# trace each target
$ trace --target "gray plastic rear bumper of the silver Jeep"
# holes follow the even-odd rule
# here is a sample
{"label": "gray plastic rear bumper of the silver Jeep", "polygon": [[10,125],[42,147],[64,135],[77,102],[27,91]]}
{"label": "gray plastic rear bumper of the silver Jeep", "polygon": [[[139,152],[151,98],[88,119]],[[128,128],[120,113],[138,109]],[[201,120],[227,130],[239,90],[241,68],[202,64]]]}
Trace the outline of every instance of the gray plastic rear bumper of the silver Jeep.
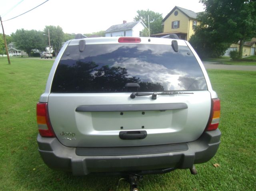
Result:
{"label": "gray plastic rear bumper of the silver Jeep", "polygon": [[204,163],[216,154],[220,135],[219,129],[204,132],[198,140],[186,143],[186,151],[122,156],[78,156],[76,148],[62,145],[57,138],[44,138],[39,134],[37,142],[40,155],[50,168],[71,171],[74,175],[87,175],[170,167],[191,168],[193,164]]}

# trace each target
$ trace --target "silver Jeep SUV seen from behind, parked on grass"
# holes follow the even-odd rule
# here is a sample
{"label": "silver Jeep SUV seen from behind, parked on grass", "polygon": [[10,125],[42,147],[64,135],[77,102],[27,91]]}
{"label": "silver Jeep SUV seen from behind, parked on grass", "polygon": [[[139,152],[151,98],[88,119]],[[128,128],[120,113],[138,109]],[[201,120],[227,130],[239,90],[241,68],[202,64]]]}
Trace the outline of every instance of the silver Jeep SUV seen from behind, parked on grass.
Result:
{"label": "silver Jeep SUV seen from behind, parked on grass", "polygon": [[52,169],[164,173],[210,160],[220,144],[220,100],[180,39],[67,41],[37,104],[37,142]]}

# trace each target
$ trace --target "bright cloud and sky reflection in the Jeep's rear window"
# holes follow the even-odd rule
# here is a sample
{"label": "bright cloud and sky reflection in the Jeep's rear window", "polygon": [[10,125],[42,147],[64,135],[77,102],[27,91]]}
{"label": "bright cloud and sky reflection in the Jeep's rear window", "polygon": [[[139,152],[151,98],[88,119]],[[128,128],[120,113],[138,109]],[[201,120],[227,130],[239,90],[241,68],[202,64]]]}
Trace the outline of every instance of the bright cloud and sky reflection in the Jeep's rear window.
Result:
{"label": "bright cloud and sky reflection in the Jeep's rear window", "polygon": [[91,72],[92,76],[104,65],[122,67],[128,77],[160,84],[165,91],[207,89],[202,70],[187,46],[179,46],[178,53],[171,45],[156,44],[86,45],[82,53],[78,46],[70,46],[61,60],[66,60],[64,64],[70,67],[75,67],[77,60],[85,64],[94,62],[98,67]]}

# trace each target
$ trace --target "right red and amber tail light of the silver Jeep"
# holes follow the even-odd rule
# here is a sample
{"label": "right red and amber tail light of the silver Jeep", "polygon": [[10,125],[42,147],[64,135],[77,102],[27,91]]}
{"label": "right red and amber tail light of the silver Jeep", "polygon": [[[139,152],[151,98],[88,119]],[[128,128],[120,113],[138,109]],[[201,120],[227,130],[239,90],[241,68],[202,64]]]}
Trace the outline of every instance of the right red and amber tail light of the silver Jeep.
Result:
{"label": "right red and amber tail light of the silver Jeep", "polygon": [[220,121],[220,99],[212,99],[212,116],[206,127],[206,131],[213,131],[218,128]]}

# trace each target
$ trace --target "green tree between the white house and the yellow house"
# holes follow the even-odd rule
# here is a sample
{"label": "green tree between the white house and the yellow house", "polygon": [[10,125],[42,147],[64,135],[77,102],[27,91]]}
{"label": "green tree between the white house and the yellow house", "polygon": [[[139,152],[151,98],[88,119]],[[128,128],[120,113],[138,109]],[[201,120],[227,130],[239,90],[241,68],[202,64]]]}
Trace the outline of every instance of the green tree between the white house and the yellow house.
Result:
{"label": "green tree between the white house and the yellow house", "polygon": [[162,33],[162,14],[156,13],[150,10],[138,10],[138,15],[134,17],[134,21],[142,21],[146,27],[148,27],[148,16],[149,16],[149,28],[150,34]]}

